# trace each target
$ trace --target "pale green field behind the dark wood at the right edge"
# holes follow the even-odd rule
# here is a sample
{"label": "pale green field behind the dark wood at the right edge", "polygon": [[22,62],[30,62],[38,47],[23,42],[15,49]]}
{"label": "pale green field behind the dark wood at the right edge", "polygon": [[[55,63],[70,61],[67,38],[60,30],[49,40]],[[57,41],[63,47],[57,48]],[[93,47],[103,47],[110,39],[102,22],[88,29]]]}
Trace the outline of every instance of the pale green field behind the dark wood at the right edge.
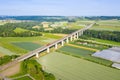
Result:
{"label": "pale green field behind the dark wood at the right edge", "polygon": [[106,20],[96,22],[98,25],[91,27],[92,30],[120,31],[119,20]]}

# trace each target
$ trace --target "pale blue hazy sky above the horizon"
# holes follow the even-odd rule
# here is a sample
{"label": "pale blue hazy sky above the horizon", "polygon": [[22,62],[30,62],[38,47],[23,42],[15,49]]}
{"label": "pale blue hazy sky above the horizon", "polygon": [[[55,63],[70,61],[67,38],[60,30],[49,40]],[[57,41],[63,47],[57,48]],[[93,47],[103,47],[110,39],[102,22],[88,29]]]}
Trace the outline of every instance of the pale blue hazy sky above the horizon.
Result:
{"label": "pale blue hazy sky above the horizon", "polygon": [[0,0],[0,15],[120,16],[120,0]]}

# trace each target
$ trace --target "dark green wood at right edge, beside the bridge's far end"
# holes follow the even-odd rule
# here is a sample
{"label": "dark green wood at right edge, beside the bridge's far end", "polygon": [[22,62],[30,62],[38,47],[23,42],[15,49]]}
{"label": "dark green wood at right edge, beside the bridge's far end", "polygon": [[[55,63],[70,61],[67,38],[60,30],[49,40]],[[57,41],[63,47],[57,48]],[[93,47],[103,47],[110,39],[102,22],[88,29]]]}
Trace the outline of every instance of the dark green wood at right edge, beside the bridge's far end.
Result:
{"label": "dark green wood at right edge, beside the bridge's far end", "polygon": [[120,32],[119,31],[86,30],[84,32],[84,36],[120,42]]}

